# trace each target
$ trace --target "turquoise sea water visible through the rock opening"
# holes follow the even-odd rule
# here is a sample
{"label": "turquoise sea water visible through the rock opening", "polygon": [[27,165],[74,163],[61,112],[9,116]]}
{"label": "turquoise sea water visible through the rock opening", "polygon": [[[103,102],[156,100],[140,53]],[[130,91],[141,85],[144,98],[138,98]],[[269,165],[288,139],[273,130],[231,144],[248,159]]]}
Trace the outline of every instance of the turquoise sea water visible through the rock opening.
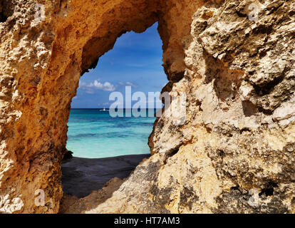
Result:
{"label": "turquoise sea water visible through the rock opening", "polygon": [[155,118],[129,118],[125,113],[130,110],[122,111],[124,117],[113,118],[108,110],[71,109],[67,149],[74,157],[87,158],[150,153],[148,137]]}

